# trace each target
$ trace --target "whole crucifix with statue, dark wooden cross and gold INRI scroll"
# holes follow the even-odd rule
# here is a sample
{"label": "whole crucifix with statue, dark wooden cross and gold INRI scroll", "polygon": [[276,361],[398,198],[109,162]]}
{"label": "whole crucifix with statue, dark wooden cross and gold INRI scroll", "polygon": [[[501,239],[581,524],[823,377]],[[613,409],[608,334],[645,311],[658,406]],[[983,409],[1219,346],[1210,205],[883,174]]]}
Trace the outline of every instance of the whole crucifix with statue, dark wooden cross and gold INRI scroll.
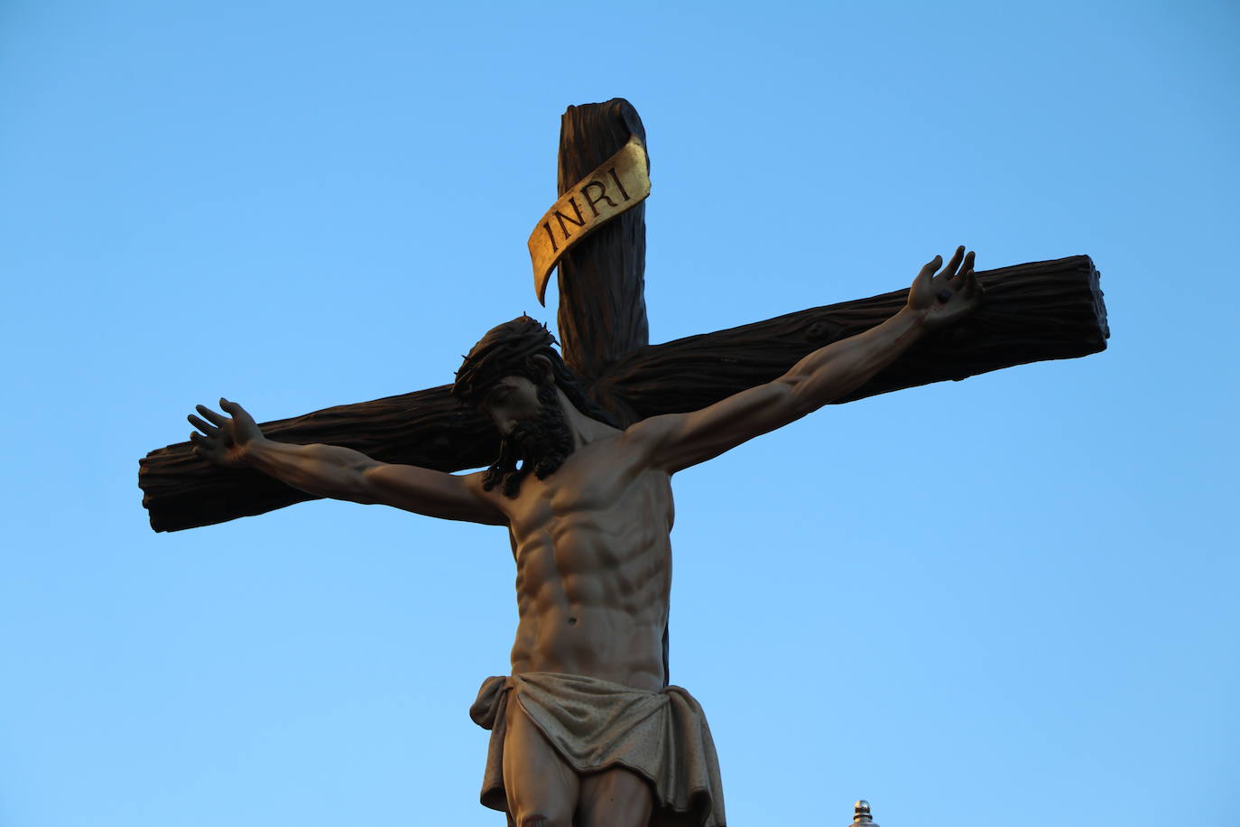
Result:
{"label": "whole crucifix with statue, dark wooden cross and gold INRI scroll", "polygon": [[139,471],[155,531],[322,496],[506,526],[512,674],[471,715],[492,730],[482,801],[520,825],[724,825],[704,715],[667,670],[672,474],[823,404],[1085,356],[1109,335],[1089,257],[975,273],[960,248],[908,290],[650,345],[649,180],[618,171],[645,159],[626,100],[563,115],[560,200],[531,236],[539,299],[559,268],[559,353],[522,316],[453,384],[262,425],[200,405],[191,441]]}

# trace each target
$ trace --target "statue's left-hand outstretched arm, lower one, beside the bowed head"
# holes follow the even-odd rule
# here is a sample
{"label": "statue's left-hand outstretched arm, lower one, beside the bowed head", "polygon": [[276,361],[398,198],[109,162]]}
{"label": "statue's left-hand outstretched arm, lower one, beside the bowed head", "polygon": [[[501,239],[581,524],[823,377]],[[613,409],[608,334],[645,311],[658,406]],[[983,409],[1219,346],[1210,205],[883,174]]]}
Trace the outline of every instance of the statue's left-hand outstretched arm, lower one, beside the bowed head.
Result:
{"label": "statue's left-hand outstretched arm, lower one, beside the bowed head", "polygon": [[267,439],[236,402],[219,400],[232,417],[197,405],[190,414],[201,433],[190,434],[193,453],[226,467],[253,467],[308,493],[334,500],[382,503],[429,517],[503,524],[480,475],[455,476],[414,465],[391,465],[336,445],[290,445]]}

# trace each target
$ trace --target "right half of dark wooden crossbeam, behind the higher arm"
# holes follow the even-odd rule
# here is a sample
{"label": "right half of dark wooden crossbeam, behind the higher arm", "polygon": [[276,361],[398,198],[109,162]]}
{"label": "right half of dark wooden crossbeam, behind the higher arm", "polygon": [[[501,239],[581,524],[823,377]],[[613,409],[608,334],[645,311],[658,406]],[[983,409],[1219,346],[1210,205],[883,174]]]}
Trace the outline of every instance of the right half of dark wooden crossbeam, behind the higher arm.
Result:
{"label": "right half of dark wooden crossbeam, behind the higher arm", "polygon": [[[1106,309],[1099,273],[1087,255],[977,275],[986,298],[975,314],[926,336],[837,402],[1106,348]],[[637,348],[600,376],[593,389],[637,419],[697,410],[770,382],[815,350],[880,324],[904,306],[908,293],[811,307]]]}

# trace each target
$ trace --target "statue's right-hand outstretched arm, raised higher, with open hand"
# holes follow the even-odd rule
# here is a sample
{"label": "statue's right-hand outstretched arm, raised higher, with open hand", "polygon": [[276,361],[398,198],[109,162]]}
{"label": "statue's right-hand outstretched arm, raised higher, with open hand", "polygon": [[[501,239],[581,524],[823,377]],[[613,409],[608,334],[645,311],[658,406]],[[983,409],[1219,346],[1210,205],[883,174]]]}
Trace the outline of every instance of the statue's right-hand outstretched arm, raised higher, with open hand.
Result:
{"label": "statue's right-hand outstretched arm, raised higher, with open hand", "polygon": [[[962,267],[963,264],[963,267]],[[973,254],[961,247],[921,268],[905,306],[863,334],[822,347],[766,384],[687,414],[651,417],[625,434],[652,467],[675,472],[775,430],[864,384],[918,341],[962,319],[981,301]]]}

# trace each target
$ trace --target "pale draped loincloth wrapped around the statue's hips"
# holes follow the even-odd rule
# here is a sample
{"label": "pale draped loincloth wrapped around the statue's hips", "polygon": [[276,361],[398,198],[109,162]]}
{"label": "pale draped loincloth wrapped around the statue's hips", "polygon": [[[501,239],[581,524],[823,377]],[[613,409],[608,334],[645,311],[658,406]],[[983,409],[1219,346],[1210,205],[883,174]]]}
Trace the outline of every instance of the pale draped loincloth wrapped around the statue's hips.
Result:
{"label": "pale draped loincloth wrapped around the statue's hips", "polygon": [[526,672],[482,682],[469,714],[491,730],[484,806],[507,812],[510,693],[579,775],[624,766],[644,777],[655,792],[651,827],[725,827],[719,760],[693,696],[675,686],[650,692],[580,674]]}

